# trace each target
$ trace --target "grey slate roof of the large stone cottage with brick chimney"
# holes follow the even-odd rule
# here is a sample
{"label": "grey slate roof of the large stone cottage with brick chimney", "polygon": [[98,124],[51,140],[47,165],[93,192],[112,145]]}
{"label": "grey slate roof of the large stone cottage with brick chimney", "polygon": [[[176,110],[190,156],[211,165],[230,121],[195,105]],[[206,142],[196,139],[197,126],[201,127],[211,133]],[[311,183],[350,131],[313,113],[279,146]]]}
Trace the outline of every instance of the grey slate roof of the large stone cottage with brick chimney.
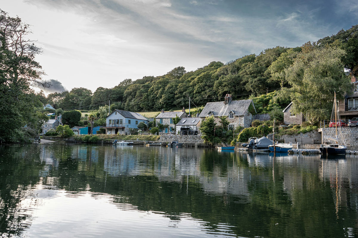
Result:
{"label": "grey slate roof of the large stone cottage with brick chimney", "polygon": [[[213,113],[214,116],[228,116],[230,111],[233,111],[236,116],[245,115],[248,107],[252,103],[253,108],[255,105],[251,99],[248,100],[235,100],[231,101],[229,104],[224,104],[224,102],[208,102],[206,103],[203,111],[200,113],[199,117],[207,117],[209,114]],[[256,109],[255,109],[256,111]]]}

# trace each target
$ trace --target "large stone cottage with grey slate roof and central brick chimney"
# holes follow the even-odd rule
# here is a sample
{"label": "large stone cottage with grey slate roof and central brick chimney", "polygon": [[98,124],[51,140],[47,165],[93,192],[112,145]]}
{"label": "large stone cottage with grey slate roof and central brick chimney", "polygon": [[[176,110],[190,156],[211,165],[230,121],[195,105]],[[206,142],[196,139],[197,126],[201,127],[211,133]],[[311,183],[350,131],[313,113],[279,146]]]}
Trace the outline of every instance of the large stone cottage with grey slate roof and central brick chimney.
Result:
{"label": "large stone cottage with grey slate roof and central brick chimney", "polygon": [[231,95],[227,94],[223,102],[208,102],[199,117],[214,116],[215,122],[220,123],[219,116],[227,116],[229,120],[229,128],[236,128],[238,126],[250,127],[252,117],[256,114],[255,105],[253,101],[236,100],[232,101]]}

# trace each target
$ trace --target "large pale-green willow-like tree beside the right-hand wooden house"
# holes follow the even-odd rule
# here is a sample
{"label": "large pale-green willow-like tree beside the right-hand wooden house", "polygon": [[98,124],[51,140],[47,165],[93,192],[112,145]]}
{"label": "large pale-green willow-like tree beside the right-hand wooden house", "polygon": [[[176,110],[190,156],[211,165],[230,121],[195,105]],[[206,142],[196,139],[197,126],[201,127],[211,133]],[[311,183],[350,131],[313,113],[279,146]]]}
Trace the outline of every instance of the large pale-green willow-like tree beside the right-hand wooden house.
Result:
{"label": "large pale-green willow-like tree beside the right-hand wooden house", "polygon": [[343,98],[352,90],[341,61],[344,54],[340,49],[313,49],[300,53],[285,70],[286,80],[292,85],[285,91],[294,102],[294,113],[303,113],[309,122],[329,118],[334,91],[338,98]]}

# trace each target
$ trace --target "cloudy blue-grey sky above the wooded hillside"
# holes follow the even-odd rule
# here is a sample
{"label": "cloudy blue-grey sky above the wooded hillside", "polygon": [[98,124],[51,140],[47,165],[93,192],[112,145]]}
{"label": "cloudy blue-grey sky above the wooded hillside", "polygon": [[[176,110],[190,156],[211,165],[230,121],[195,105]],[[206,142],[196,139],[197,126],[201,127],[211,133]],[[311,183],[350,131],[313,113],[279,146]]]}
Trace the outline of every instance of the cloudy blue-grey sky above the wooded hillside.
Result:
{"label": "cloudy blue-grey sky above the wooded hillside", "polygon": [[32,25],[47,93],[196,70],[358,24],[357,0],[5,0]]}

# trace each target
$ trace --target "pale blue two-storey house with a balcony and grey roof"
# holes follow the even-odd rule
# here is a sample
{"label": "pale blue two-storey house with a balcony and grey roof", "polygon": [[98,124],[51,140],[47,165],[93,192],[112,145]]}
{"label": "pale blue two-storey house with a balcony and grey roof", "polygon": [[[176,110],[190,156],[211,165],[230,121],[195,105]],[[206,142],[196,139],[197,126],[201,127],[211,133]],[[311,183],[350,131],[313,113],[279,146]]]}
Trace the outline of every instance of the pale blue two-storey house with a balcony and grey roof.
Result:
{"label": "pale blue two-storey house with a balcony and grey roof", "polygon": [[130,129],[138,129],[140,122],[148,125],[148,119],[139,113],[116,109],[106,117],[106,125],[103,127],[106,128],[106,134],[125,135]]}

